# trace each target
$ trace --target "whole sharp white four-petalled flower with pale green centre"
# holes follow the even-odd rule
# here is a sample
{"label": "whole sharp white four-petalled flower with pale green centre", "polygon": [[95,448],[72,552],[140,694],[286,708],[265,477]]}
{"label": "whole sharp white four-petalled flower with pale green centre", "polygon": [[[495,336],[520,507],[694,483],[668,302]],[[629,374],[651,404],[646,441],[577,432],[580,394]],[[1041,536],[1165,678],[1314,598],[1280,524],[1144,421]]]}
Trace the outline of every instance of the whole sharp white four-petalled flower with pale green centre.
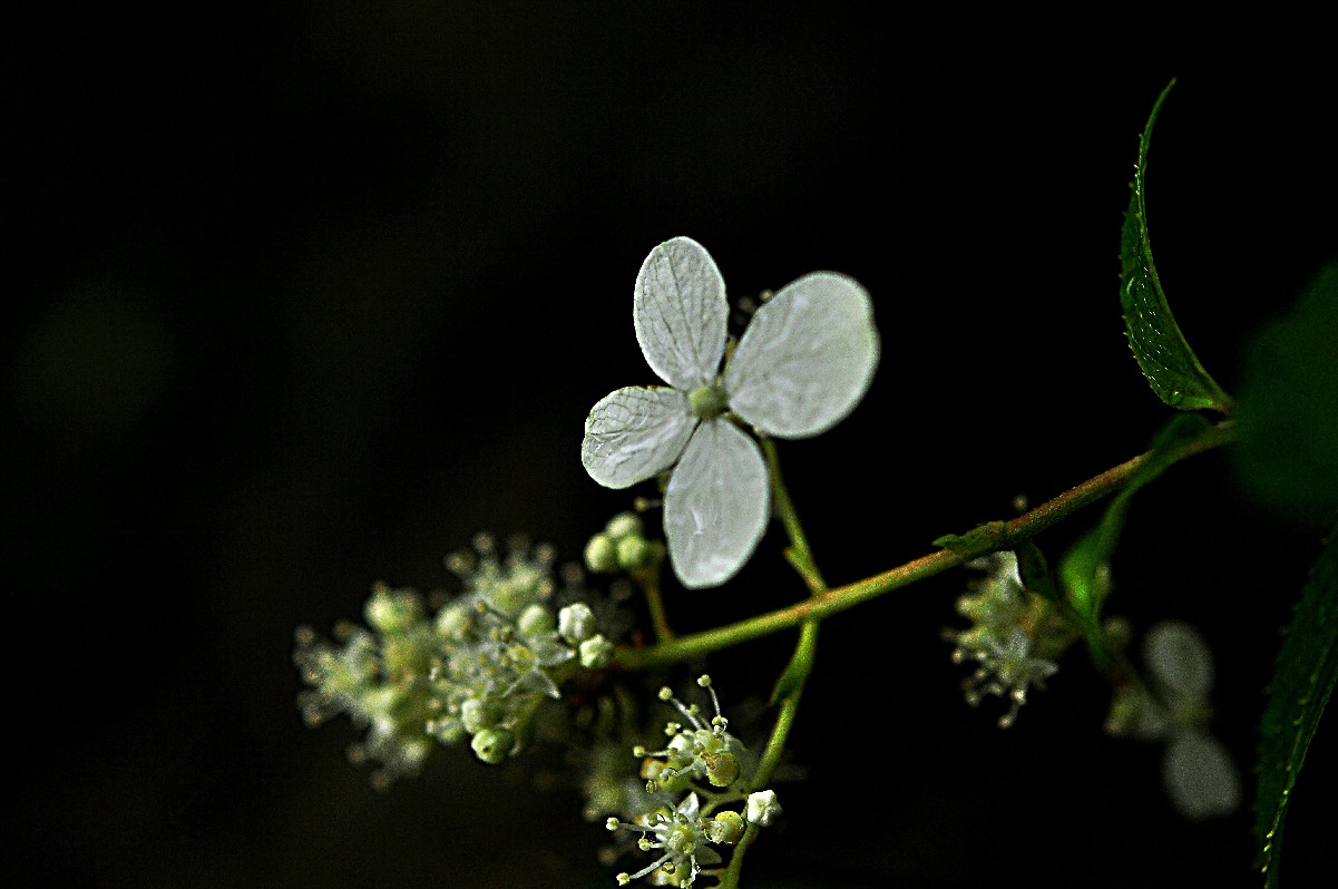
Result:
{"label": "whole sharp white four-petalled flower with pale green centre", "polygon": [[729,305],[714,260],[692,238],[650,252],[633,293],[641,353],[668,387],[625,387],[586,419],[581,462],[606,487],[673,467],[664,498],[669,561],[684,586],[743,568],[771,514],[760,435],[808,438],[864,395],[879,341],[868,293],[834,272],[787,284],[757,309],[728,366]]}

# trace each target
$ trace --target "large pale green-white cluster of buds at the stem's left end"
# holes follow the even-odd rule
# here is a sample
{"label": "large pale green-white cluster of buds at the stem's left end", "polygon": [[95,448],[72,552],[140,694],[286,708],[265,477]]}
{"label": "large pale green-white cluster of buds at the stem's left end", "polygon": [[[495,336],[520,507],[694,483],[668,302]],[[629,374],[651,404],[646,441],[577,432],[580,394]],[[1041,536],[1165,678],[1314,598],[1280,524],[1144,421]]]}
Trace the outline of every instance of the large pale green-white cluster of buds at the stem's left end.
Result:
{"label": "large pale green-white cluster of buds at the stem's left end", "polygon": [[447,560],[463,590],[435,615],[409,589],[373,586],[367,628],[343,624],[336,643],[310,628],[293,659],[310,685],[298,698],[309,724],[348,714],[367,726],[356,760],[373,759],[379,785],[416,773],[435,743],[468,739],[499,763],[535,731],[535,715],[579,668],[614,653],[590,607],[554,608],[554,554],[516,541],[506,556],[480,534]]}

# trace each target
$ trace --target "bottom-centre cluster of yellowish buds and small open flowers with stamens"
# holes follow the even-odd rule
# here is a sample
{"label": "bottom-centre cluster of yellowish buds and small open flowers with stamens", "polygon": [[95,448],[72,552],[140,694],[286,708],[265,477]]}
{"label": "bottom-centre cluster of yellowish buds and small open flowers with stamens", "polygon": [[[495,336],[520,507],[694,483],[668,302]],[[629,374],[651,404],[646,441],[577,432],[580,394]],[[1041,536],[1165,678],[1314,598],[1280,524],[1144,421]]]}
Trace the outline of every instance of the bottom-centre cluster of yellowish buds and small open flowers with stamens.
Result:
{"label": "bottom-centre cluster of yellowish buds and small open flowers with stamens", "polygon": [[[721,862],[713,846],[733,846],[743,839],[748,825],[767,826],[780,814],[775,791],[749,794],[744,789],[740,774],[744,747],[729,734],[710,677],[701,676],[697,684],[710,692],[714,716],[708,720],[698,706],[685,706],[669,688],[661,688],[660,699],[686,724],[673,720],[665,726],[669,743],[664,750],[633,748],[633,755],[642,759],[641,775],[654,807],[629,821],[609,818],[605,826],[641,834],[637,847],[657,857],[637,873],[619,873],[619,886],[642,877],[652,885],[692,886],[698,876],[710,873],[706,868]],[[731,802],[744,802],[743,811],[716,811]]]}

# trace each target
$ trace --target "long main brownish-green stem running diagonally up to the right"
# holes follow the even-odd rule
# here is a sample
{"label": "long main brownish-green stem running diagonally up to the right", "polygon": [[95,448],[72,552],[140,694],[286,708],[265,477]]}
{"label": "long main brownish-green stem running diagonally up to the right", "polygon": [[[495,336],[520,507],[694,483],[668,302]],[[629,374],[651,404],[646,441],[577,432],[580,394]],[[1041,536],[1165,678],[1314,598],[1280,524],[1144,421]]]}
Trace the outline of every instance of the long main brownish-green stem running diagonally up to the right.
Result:
{"label": "long main brownish-green stem running diagonally up to the right", "polygon": [[[1185,444],[1176,455],[1176,459],[1202,454],[1231,440],[1235,440],[1235,430],[1230,422],[1211,426],[1198,439]],[[757,615],[756,617],[749,617],[735,624],[689,636],[678,636],[650,648],[622,648],[614,659],[614,665],[621,669],[648,669],[701,657],[723,648],[731,648],[752,639],[797,627],[808,620],[826,620],[847,608],[854,608],[927,577],[942,574],[986,553],[1014,549],[1018,544],[1030,540],[1077,510],[1090,506],[1120,490],[1148,459],[1148,454],[1141,454],[1108,469],[1100,475],[1089,478],[1081,485],[1064,491],[1058,497],[1041,503],[1012,521],[982,525],[977,529],[978,534],[963,536],[963,540],[969,542],[963,549],[941,549],[886,570],[882,574],[874,574],[854,584],[826,590],[788,608]]]}

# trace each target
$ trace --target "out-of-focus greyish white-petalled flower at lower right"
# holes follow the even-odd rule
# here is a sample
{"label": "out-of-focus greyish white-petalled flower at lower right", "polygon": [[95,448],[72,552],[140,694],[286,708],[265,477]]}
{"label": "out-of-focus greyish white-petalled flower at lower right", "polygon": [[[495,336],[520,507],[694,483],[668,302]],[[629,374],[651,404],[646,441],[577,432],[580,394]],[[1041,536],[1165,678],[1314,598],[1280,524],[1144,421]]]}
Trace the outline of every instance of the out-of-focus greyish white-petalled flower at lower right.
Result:
{"label": "out-of-focus greyish white-petalled flower at lower right", "polygon": [[1163,621],[1143,640],[1148,684],[1115,690],[1105,728],[1116,736],[1165,743],[1161,779],[1189,821],[1228,815],[1240,806],[1240,777],[1226,746],[1208,731],[1212,653],[1183,621]]}

